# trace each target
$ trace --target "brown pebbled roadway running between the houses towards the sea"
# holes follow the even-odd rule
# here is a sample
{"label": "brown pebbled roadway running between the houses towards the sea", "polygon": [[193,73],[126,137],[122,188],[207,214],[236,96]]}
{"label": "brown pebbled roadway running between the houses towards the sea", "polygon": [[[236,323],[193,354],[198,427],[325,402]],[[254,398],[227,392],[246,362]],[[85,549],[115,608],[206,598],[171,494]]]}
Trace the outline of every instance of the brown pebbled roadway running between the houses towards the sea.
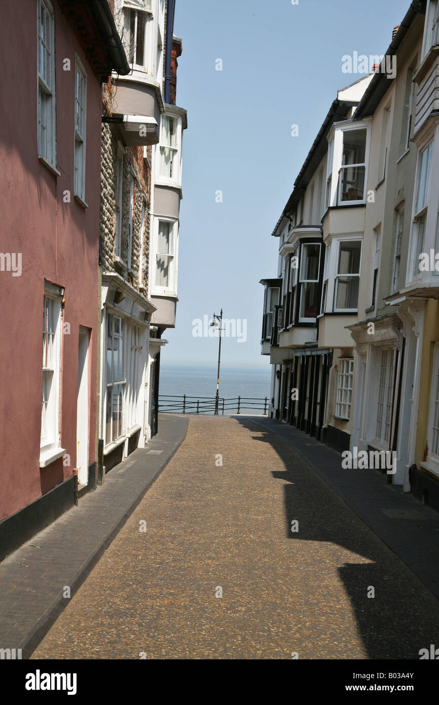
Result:
{"label": "brown pebbled roadway running between the houses towards the sea", "polygon": [[191,417],[32,658],[417,659],[438,620],[286,441],[252,417]]}

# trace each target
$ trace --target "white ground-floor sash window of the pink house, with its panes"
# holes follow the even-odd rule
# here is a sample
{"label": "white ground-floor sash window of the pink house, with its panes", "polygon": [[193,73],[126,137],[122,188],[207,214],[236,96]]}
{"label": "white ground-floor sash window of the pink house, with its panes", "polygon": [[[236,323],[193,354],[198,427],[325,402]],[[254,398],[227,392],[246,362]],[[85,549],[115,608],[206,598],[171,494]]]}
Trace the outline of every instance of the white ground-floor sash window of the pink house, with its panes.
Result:
{"label": "white ground-floor sash window of the pink house, with its panes", "polygon": [[41,453],[44,454],[47,450],[59,447],[61,296],[58,289],[50,284],[47,284],[44,288],[42,323],[43,362],[40,447]]}

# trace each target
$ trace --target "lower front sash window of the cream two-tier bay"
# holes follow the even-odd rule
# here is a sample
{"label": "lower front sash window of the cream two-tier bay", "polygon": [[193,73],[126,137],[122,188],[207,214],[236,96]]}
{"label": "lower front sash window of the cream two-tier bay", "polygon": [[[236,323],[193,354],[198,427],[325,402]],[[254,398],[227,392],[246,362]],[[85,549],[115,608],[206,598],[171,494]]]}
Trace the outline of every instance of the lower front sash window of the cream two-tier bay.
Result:
{"label": "lower front sash window of the cream two-tier bay", "polygon": [[361,240],[340,240],[335,275],[334,311],[357,311]]}

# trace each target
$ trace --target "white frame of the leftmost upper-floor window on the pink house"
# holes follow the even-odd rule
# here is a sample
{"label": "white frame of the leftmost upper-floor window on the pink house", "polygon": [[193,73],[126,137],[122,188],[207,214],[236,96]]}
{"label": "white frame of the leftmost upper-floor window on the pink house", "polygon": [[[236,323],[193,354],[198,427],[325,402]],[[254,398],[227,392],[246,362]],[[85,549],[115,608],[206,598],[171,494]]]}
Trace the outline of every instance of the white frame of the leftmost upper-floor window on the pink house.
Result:
{"label": "white frame of the leftmost upper-floor window on the pink house", "polygon": [[[49,16],[49,37],[47,44],[40,35],[41,19],[43,9]],[[49,54],[48,75],[44,77],[41,71],[41,51]],[[46,79],[49,79],[47,82]],[[38,157],[51,168],[56,170],[56,104],[55,104],[55,13],[49,0],[38,0],[37,2],[37,142]],[[40,125],[42,123],[42,99],[46,96],[49,107],[46,111],[45,140],[41,137]]]}

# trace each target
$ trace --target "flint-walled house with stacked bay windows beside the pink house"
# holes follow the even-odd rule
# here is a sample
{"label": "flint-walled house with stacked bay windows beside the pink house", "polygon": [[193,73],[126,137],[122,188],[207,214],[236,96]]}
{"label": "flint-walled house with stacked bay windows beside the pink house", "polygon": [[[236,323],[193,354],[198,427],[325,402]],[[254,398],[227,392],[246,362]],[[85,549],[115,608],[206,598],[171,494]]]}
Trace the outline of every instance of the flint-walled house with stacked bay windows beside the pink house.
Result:
{"label": "flint-walled house with stacked bay windows beside the pink house", "polygon": [[157,430],[161,335],[175,326],[181,144],[175,4],[116,0],[131,71],[104,86],[101,199],[102,472]]}

